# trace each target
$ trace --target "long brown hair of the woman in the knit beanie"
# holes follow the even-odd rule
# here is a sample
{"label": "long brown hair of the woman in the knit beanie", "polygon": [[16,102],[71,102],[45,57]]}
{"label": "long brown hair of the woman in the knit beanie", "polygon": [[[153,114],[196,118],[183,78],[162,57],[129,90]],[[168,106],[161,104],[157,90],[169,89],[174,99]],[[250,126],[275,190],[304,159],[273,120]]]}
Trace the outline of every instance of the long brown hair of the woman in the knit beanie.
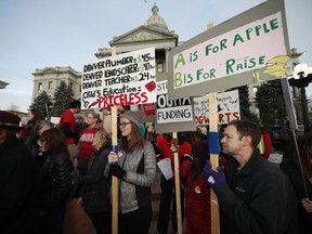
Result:
{"label": "long brown hair of the woman in the knit beanie", "polygon": [[139,126],[131,121],[131,132],[130,139],[128,136],[121,135],[119,141],[119,150],[125,151],[127,153],[132,153],[136,148],[143,148],[145,144],[145,139],[140,132]]}

